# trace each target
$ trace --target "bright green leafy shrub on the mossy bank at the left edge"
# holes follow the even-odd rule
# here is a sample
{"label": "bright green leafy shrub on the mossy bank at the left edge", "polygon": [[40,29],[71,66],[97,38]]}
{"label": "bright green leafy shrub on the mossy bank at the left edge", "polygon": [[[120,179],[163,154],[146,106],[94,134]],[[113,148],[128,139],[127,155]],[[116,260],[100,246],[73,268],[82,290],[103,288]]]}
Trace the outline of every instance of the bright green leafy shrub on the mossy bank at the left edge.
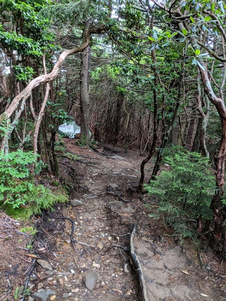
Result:
{"label": "bright green leafy shrub on the mossy bank at the left edge", "polygon": [[25,219],[55,203],[67,202],[62,193],[52,193],[42,185],[29,181],[29,169],[36,162],[32,152],[0,152],[0,204],[10,215]]}

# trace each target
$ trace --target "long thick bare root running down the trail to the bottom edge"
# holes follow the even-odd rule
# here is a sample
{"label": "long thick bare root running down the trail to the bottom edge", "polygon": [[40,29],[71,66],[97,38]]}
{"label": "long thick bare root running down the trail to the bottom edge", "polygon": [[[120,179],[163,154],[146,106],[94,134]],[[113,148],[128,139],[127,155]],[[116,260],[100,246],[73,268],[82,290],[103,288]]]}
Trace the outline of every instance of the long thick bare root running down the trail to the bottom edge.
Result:
{"label": "long thick bare root running down the trail to the bottom edge", "polygon": [[136,234],[136,230],[137,230],[137,224],[134,226],[133,231],[132,231],[131,236],[130,236],[130,256],[131,256],[131,259],[134,263],[134,266],[135,266],[136,271],[137,271],[138,276],[139,276],[143,301],[149,301],[147,286],[146,286],[146,282],[145,282],[141,262],[139,260],[139,257],[135,254],[135,250],[134,250],[134,236]]}

